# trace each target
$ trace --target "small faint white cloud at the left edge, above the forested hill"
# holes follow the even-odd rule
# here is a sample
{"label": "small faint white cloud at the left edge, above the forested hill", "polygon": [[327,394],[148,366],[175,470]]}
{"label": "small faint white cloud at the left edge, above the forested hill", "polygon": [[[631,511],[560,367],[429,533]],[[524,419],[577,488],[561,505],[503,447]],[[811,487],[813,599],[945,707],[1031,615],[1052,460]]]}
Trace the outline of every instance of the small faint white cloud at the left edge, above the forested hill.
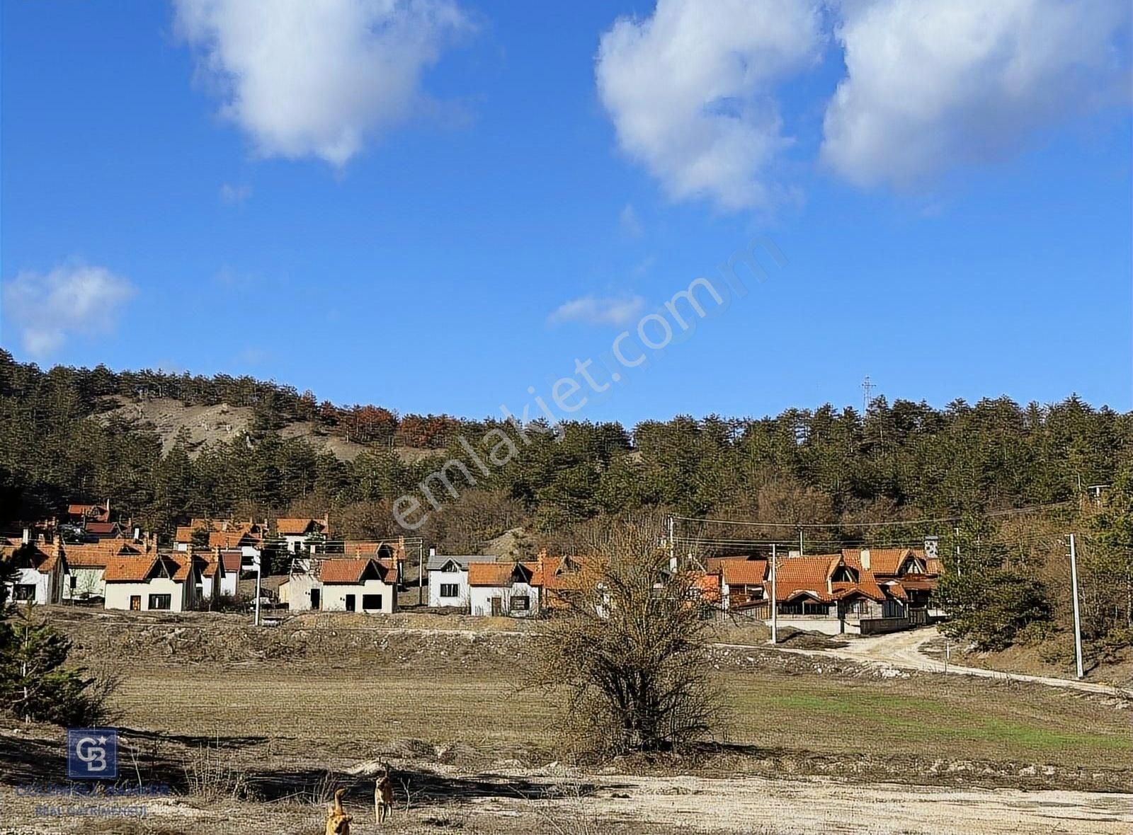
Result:
{"label": "small faint white cloud at the left edge, above the forested hill", "polygon": [[134,285],[104,267],[68,265],[19,273],[3,287],[3,313],[24,350],[48,356],[74,335],[112,333]]}

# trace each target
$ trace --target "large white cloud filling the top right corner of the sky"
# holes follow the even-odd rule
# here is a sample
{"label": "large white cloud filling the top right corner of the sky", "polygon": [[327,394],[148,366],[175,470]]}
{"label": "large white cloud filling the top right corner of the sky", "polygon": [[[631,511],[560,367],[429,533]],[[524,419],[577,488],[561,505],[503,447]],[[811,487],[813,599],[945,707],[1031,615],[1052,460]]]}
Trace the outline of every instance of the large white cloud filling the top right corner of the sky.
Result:
{"label": "large white cloud filling the top right corner of the sky", "polygon": [[906,187],[995,158],[1127,84],[1123,0],[846,0],[847,75],[821,156],[858,186]]}

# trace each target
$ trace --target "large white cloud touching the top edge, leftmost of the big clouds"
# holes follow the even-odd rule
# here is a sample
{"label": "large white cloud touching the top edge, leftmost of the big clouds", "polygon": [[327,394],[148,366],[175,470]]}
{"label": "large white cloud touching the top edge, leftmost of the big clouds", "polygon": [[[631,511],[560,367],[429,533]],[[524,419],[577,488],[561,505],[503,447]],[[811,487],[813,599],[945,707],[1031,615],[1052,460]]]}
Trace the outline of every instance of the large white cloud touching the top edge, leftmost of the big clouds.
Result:
{"label": "large white cloud touching the top edge, leftmost of the big clouds", "polygon": [[451,0],[174,0],[178,32],[264,156],[344,165],[421,103],[420,75],[469,28]]}

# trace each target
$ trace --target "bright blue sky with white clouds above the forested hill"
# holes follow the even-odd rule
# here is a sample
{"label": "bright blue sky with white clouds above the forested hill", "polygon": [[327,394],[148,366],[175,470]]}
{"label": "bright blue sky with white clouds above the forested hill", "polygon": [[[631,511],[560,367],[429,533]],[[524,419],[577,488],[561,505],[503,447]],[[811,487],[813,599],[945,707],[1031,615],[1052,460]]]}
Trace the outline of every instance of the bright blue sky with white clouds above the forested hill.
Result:
{"label": "bright blue sky with white clouds above the forested hill", "polygon": [[6,3],[0,343],[518,412],[763,238],[573,416],[1133,408],[1128,11],[980,6]]}

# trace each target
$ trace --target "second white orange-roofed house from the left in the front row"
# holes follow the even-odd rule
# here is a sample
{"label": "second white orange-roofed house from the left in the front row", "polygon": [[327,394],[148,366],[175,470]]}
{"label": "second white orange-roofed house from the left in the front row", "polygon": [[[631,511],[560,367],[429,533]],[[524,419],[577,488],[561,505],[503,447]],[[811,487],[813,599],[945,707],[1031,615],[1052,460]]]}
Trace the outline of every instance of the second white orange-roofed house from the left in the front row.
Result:
{"label": "second white orange-roofed house from the left in the front row", "polygon": [[105,608],[184,612],[198,606],[205,560],[191,553],[116,557],[107,563]]}

